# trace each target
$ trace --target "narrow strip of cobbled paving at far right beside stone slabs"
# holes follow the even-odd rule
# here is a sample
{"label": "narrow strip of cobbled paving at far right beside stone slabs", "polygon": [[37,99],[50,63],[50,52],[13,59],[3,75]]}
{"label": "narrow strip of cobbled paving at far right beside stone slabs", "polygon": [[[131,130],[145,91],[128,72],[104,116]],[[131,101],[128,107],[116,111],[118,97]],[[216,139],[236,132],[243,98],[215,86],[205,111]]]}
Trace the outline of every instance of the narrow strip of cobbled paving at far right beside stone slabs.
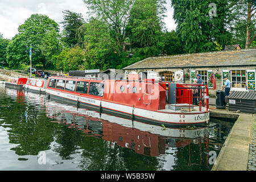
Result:
{"label": "narrow strip of cobbled paving at far right beside stone slabs", "polygon": [[251,124],[251,142],[248,158],[248,171],[256,171],[256,117],[254,116],[254,122]]}

